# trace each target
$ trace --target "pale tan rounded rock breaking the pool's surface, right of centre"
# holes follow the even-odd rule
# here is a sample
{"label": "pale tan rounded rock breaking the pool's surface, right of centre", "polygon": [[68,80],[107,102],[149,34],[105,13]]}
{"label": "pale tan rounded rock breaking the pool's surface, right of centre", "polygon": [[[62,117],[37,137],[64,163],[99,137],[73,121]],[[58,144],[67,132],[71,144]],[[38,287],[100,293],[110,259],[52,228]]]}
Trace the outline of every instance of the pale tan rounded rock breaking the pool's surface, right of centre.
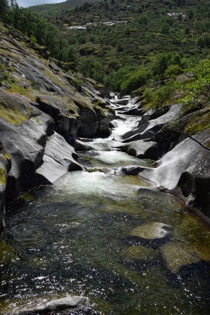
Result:
{"label": "pale tan rounded rock breaking the pool's surface, right of centre", "polygon": [[149,224],[137,226],[131,232],[132,236],[144,238],[148,240],[165,238],[170,234],[170,226],[160,222],[152,222]]}

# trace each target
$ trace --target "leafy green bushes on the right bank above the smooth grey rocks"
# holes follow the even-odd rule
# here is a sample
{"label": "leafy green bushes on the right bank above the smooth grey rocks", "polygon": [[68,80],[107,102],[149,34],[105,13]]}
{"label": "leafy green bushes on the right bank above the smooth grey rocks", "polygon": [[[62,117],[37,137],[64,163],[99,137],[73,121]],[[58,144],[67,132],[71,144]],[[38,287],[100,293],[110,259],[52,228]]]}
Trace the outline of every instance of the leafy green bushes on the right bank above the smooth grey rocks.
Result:
{"label": "leafy green bushes on the right bank above the smooth grey rocks", "polygon": [[171,103],[182,103],[180,117],[172,129],[192,135],[210,128],[210,61],[203,59],[184,74],[144,86],[134,92],[142,95],[143,108],[158,109]]}

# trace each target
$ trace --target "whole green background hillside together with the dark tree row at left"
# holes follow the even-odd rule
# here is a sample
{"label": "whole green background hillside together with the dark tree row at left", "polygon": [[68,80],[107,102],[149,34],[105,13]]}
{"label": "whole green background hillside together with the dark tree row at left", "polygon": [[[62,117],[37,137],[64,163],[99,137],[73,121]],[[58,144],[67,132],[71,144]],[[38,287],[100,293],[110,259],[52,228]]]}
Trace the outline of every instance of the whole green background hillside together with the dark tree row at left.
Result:
{"label": "whole green background hillside together with the dark tree row at left", "polygon": [[[104,0],[76,8],[70,0],[32,7],[48,22],[19,8],[15,0],[8,3],[2,0],[0,19],[26,34],[32,46],[46,46],[51,57],[74,62],[84,75],[125,94],[163,77],[171,80],[209,57],[210,8],[205,0]],[[69,29],[76,25],[85,29]],[[156,91],[154,106],[170,89]]]}

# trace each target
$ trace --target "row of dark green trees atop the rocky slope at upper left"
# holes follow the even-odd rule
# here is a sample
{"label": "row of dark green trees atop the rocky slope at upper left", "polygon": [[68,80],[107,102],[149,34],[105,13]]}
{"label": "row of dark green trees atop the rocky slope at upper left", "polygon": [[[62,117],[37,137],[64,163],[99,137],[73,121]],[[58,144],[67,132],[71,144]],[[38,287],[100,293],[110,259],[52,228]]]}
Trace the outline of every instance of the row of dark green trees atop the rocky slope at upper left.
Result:
{"label": "row of dark green trees atop the rocky slope at upper left", "polygon": [[31,39],[32,45],[46,46],[51,57],[63,62],[77,61],[69,37],[30,9],[20,8],[16,0],[1,0],[0,20],[23,32]]}

